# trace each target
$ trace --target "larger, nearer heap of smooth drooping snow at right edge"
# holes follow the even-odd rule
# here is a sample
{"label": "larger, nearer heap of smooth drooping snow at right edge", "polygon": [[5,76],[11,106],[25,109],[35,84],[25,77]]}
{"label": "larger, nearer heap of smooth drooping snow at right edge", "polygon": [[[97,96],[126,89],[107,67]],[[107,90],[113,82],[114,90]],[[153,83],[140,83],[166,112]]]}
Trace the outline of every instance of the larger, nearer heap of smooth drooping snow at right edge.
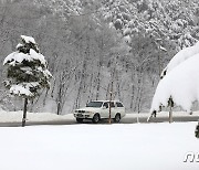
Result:
{"label": "larger, nearer heap of smooth drooping snow at right edge", "polygon": [[192,103],[199,100],[199,54],[174,67],[159,82],[150,113],[158,111],[159,106],[167,106],[170,97],[187,111],[191,111]]}

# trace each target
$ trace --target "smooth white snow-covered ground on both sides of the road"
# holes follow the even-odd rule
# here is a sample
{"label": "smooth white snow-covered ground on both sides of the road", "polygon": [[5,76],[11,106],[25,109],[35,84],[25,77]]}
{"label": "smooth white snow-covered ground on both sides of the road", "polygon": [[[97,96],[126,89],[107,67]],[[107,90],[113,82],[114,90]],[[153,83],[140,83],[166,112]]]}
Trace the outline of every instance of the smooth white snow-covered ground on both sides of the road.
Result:
{"label": "smooth white snow-covered ground on both sides of the road", "polygon": [[[59,117],[43,118],[46,115]],[[196,123],[1,127],[0,169],[198,170],[199,162],[184,162],[186,153],[199,152],[195,127]]]}

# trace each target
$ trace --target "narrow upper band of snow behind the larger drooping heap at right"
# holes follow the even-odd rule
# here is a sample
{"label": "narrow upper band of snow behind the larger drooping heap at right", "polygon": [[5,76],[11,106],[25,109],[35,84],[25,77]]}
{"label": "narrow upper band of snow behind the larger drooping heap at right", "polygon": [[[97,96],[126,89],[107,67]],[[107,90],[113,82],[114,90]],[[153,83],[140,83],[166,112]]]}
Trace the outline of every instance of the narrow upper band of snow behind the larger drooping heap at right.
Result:
{"label": "narrow upper band of snow behind the larger drooping heap at right", "polygon": [[164,77],[168,72],[174,70],[178,64],[182,63],[187,59],[189,59],[198,53],[199,53],[199,42],[197,42],[193,46],[182,49],[170,60],[168,65],[163,71],[161,77]]}

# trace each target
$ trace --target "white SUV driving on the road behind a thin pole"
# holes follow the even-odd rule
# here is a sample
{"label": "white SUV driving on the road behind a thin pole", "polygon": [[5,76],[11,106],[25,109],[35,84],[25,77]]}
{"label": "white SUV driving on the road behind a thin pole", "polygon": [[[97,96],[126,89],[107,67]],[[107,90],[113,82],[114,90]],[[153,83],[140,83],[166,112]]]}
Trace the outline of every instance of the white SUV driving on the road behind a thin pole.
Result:
{"label": "white SUV driving on the road behind a thin pole", "polygon": [[[121,102],[111,102],[111,118],[115,123],[119,123],[121,118],[125,116],[125,108]],[[74,117],[77,123],[83,123],[84,119],[91,119],[97,124],[101,119],[109,118],[109,102],[108,100],[94,100],[90,102],[86,107],[76,109]]]}

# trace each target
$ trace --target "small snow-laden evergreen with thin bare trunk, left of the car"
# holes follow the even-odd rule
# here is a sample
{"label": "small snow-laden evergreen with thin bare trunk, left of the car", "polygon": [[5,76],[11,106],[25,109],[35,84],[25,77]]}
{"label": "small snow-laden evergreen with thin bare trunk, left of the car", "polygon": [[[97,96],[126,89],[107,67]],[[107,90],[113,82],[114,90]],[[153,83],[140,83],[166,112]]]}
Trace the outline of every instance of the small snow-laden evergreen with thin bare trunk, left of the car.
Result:
{"label": "small snow-laden evergreen with thin bare trunk, left of the car", "polygon": [[28,99],[39,95],[41,88],[50,88],[51,73],[48,63],[31,36],[21,35],[22,43],[3,62],[8,66],[4,85],[10,94],[24,98],[22,126],[25,125]]}

